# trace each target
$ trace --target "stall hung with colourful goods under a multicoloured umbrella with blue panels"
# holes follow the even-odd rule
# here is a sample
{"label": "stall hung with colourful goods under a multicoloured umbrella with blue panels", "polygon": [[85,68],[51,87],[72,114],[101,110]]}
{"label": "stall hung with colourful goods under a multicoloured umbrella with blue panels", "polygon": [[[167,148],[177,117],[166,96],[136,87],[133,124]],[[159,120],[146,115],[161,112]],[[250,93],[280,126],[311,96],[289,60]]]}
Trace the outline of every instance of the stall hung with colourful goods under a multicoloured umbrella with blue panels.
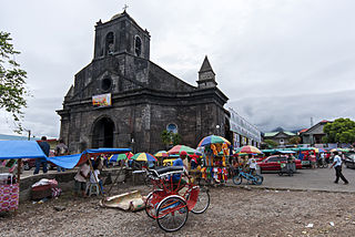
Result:
{"label": "stall hung with colourful goods under a multicoloured umbrella with blue panels", "polygon": [[199,147],[203,147],[204,152],[204,166],[201,168],[201,176],[206,183],[226,183],[230,145],[227,140],[216,135],[206,136],[199,143]]}

